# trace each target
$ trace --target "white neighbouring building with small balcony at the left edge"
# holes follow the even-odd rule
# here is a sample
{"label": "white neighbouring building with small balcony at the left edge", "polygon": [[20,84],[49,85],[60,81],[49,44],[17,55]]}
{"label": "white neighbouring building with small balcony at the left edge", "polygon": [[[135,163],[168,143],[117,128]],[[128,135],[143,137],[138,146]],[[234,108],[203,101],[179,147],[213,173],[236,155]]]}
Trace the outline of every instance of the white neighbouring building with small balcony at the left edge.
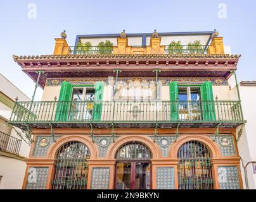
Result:
{"label": "white neighbouring building with small balcony at the left edge", "polygon": [[0,83],[0,189],[22,189],[30,146],[16,134],[22,131],[6,122],[11,117],[16,97],[24,102],[30,99],[2,74]]}

